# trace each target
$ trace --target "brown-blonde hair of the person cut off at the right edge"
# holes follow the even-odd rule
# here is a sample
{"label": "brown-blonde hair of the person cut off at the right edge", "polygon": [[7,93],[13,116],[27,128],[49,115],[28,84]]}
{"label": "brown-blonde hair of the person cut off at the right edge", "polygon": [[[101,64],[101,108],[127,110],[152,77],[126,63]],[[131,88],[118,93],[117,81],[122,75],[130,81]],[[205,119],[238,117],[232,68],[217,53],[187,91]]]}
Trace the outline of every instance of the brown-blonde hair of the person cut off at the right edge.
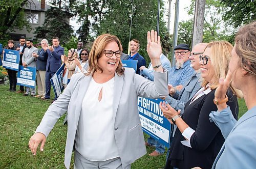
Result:
{"label": "brown-blonde hair of the person cut off at the right edge", "polygon": [[236,39],[239,66],[256,76],[256,21],[240,27]]}

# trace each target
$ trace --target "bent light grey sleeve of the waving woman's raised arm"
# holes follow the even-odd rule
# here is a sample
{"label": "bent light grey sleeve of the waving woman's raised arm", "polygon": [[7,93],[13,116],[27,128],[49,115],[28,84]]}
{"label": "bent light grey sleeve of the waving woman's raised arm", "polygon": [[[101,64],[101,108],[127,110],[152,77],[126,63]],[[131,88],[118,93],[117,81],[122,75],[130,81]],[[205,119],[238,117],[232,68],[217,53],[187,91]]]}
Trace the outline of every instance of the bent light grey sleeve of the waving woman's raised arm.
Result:
{"label": "bent light grey sleeve of the waving woman's raised arm", "polygon": [[138,96],[146,98],[161,98],[168,95],[167,71],[163,73],[154,71],[155,81],[150,81],[135,74],[134,83]]}

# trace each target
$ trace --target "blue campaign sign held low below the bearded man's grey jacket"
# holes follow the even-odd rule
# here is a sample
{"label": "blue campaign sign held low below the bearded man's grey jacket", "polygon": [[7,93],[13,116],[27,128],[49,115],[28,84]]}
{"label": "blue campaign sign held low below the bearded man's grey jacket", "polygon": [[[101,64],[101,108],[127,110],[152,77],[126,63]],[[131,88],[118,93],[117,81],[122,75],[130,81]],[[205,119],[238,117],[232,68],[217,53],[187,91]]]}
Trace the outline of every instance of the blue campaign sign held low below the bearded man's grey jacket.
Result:
{"label": "blue campaign sign held low below the bearded man's grey jacket", "polygon": [[17,85],[35,88],[36,68],[19,66]]}

